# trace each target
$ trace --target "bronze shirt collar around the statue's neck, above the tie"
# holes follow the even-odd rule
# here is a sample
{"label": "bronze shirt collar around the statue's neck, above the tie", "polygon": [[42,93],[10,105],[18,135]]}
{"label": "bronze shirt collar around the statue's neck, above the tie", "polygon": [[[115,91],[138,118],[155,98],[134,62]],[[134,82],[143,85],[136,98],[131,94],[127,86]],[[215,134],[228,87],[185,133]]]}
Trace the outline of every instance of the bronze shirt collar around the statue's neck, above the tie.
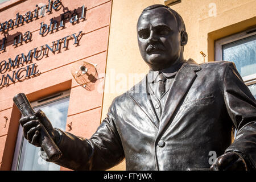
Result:
{"label": "bronze shirt collar around the statue's neck, above the tie", "polygon": [[166,78],[171,78],[172,76],[175,76],[177,71],[179,71],[179,69],[183,65],[183,63],[185,63],[185,60],[183,60],[181,63],[175,64],[175,65],[173,65],[169,68],[161,69],[160,71],[150,70],[147,74],[148,82],[154,82],[156,77],[159,75],[160,72],[162,72],[163,75],[166,76]]}

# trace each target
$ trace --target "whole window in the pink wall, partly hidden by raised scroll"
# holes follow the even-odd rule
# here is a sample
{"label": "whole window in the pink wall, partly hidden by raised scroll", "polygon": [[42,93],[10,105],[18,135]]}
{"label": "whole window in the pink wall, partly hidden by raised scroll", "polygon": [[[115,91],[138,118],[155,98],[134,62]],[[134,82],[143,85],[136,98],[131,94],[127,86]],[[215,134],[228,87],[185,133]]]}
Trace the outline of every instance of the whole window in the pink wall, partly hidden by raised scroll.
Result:
{"label": "whole window in the pink wall, partly hidden by raised scroll", "polygon": [[[65,131],[67,122],[68,104],[70,90],[42,100],[32,102],[35,111],[41,109],[46,113],[53,127]],[[46,162],[40,157],[40,147],[28,143],[23,137],[23,129],[19,126],[16,140],[12,170],[18,171],[59,171],[60,166]]]}

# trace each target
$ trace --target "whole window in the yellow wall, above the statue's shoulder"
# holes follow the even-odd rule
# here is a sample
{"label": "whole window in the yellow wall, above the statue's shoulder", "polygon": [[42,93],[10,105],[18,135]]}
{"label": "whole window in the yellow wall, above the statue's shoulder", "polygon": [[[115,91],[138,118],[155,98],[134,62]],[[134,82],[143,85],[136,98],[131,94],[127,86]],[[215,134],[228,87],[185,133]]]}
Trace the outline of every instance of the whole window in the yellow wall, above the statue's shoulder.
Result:
{"label": "whole window in the yellow wall, above the statue's shoulder", "polygon": [[215,60],[232,61],[256,98],[256,28],[217,40]]}

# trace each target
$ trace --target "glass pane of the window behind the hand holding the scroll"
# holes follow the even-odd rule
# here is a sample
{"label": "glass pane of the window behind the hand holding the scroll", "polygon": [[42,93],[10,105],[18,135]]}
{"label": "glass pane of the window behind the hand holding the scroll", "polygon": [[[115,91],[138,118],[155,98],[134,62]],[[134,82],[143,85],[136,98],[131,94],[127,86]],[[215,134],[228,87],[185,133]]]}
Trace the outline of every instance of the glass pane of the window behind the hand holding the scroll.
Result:
{"label": "glass pane of the window behind the hand holding the scroll", "polygon": [[[49,104],[35,107],[34,110],[43,110],[53,127],[65,130],[68,115],[69,98],[64,98]],[[58,171],[60,166],[49,163],[40,157],[40,147],[35,147],[23,139],[22,151],[18,164],[18,170],[24,171]]]}

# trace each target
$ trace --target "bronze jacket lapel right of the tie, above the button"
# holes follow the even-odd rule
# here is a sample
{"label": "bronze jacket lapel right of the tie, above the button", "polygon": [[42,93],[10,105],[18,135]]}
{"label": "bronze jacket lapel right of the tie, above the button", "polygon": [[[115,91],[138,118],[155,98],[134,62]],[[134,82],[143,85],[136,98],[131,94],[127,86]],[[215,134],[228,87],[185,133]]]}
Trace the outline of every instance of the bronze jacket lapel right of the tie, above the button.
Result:
{"label": "bronze jacket lapel right of the tie, above the button", "polygon": [[182,104],[181,101],[183,101],[184,96],[187,94],[196,78],[195,72],[200,70],[201,66],[194,60],[189,59],[177,72],[166,98],[162,117],[160,119],[158,137],[162,134],[164,129],[171,124],[177,109],[179,109],[179,104]]}

